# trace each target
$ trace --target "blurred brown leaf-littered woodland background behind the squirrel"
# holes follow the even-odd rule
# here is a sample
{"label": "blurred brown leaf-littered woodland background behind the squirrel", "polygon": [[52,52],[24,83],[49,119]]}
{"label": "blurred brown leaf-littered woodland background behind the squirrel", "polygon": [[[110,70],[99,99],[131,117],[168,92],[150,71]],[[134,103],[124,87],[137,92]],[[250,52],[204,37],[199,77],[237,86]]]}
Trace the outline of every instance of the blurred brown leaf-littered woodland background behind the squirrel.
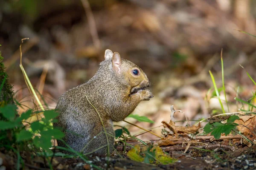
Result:
{"label": "blurred brown leaf-littered woodland background behind the squirrel", "polygon": [[19,68],[22,38],[29,37],[22,44],[23,66],[49,108],[67,89],[90,79],[111,49],[140,66],[152,82],[155,97],[135,110],[155,121],[136,122],[145,128],[169,121],[171,105],[185,112],[177,120],[218,112],[218,100],[207,92],[209,70],[221,87],[221,48],[226,111],[237,111],[236,95],[252,96],[255,86],[239,64],[256,79],[256,37],[238,30],[256,35],[255,0],[0,1],[0,51],[18,101],[33,107]]}

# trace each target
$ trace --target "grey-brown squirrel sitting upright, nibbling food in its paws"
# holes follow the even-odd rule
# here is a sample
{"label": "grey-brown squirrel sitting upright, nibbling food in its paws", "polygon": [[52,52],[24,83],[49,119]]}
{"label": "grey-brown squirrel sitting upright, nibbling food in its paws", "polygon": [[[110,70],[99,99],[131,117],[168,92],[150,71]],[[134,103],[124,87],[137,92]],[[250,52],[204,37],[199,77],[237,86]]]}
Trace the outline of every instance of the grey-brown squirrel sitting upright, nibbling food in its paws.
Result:
{"label": "grey-brown squirrel sitting upright, nibbling food in its paws", "polygon": [[112,122],[124,120],[140,101],[154,97],[146,89],[149,86],[141,68],[122,59],[119,53],[106,50],[96,74],[58,99],[58,122],[53,127],[64,133],[64,142],[57,140],[58,146],[66,147],[66,143],[77,152],[112,153],[115,136]]}

